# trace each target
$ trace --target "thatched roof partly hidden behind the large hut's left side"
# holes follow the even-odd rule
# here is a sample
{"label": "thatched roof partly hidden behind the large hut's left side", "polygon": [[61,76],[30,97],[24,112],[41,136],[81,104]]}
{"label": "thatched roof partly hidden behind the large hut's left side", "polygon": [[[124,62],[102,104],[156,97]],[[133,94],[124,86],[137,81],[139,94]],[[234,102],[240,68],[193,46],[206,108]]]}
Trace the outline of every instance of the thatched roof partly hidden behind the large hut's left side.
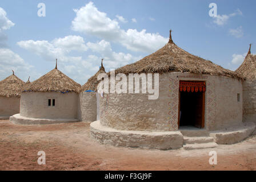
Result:
{"label": "thatched roof partly hidden behind the large hut's left side", "polygon": [[95,73],[94,76],[92,76],[88,79],[88,81],[85,83],[85,85],[82,86],[81,92],[84,92],[86,90],[97,91],[97,86],[98,86],[99,82],[101,81],[101,80],[98,80],[97,77],[98,77],[99,73],[106,73],[105,68],[103,67],[102,61],[103,61],[103,59],[101,60],[101,68],[99,68],[99,71],[97,73]]}

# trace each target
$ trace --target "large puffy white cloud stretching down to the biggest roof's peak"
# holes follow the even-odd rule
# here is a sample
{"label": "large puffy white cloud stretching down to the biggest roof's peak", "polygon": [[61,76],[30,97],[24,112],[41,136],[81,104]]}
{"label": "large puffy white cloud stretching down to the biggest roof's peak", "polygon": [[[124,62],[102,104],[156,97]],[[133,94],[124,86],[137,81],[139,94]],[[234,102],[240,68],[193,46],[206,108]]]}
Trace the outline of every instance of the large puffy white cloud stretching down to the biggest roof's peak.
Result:
{"label": "large puffy white cloud stretching down to the biggest roof's peak", "polygon": [[103,38],[107,41],[120,43],[131,51],[154,52],[164,46],[168,39],[156,34],[146,33],[146,30],[122,30],[116,20],[111,20],[89,2],[79,10],[74,10],[75,19],[72,21],[74,31],[84,32]]}

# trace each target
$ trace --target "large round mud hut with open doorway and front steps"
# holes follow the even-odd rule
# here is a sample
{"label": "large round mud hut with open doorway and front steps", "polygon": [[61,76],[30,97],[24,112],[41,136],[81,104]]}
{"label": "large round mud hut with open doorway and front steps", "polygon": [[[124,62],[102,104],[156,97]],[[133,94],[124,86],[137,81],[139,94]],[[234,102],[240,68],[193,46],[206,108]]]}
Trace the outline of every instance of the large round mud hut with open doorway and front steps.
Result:
{"label": "large round mud hut with open doorway and front steps", "polygon": [[[164,47],[116,69],[114,75],[118,74],[126,75],[126,85],[139,82],[139,92],[134,91],[134,86],[125,89],[126,93],[104,93],[101,117],[90,125],[94,140],[114,146],[167,150],[183,144],[193,148],[190,146],[193,142],[203,143],[203,148],[243,139],[240,136],[233,140],[215,131],[245,127],[242,123],[244,77],[179,48],[171,38],[171,31]],[[136,79],[130,79],[135,75],[139,76],[137,83]],[[119,82],[115,84],[117,88]],[[145,86],[147,92],[143,93]],[[153,94],[156,97],[150,99]],[[186,137],[206,139],[197,141]]]}

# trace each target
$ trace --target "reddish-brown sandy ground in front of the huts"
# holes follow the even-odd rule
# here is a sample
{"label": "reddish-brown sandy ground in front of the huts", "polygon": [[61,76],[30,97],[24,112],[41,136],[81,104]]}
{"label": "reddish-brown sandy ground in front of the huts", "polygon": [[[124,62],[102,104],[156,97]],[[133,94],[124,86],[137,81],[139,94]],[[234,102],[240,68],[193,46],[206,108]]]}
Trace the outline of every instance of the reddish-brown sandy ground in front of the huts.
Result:
{"label": "reddish-brown sandy ground in front of the huts", "polygon": [[[89,123],[14,125],[0,120],[0,170],[255,170],[256,135],[203,150],[142,150],[90,139]],[[217,165],[209,152],[217,152]],[[46,165],[39,165],[45,151]]]}

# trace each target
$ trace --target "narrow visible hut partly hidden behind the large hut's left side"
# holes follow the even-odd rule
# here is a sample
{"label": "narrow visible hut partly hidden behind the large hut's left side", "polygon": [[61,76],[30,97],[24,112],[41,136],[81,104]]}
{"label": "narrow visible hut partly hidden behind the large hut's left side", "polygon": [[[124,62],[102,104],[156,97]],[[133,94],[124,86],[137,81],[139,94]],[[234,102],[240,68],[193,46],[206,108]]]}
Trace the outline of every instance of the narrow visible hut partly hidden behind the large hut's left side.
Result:
{"label": "narrow visible hut partly hidden behind the large hut's left side", "polygon": [[99,118],[99,95],[97,93],[97,86],[99,80],[97,79],[100,73],[106,73],[101,60],[101,67],[94,76],[82,86],[79,93],[78,100],[78,118],[81,121],[93,122]]}

